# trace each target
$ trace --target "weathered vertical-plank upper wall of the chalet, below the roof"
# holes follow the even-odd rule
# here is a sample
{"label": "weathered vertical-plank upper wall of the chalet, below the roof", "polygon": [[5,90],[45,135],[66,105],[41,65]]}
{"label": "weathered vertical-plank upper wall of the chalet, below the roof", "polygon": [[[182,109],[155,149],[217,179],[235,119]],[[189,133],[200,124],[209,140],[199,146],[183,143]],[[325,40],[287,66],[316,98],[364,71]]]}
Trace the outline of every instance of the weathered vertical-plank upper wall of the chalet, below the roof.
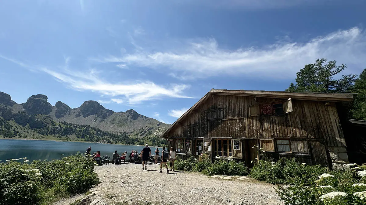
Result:
{"label": "weathered vertical-plank upper wall of the chalet, below the roof", "polygon": [[[283,116],[249,116],[249,106],[284,99],[214,95],[203,102],[168,138],[321,139],[328,146],[346,146],[335,104],[292,100],[293,112]],[[206,111],[223,109],[224,119],[207,120]]]}

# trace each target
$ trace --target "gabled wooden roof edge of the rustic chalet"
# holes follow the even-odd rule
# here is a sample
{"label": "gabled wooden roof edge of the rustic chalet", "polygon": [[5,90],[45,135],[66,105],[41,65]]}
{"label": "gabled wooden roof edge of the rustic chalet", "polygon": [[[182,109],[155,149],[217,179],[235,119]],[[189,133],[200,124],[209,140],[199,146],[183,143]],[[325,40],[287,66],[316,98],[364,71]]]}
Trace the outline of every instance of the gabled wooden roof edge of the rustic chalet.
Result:
{"label": "gabled wooden roof edge of the rustic chalet", "polygon": [[236,95],[236,96],[253,96],[253,97],[272,97],[294,100],[312,100],[312,101],[330,101],[330,102],[346,102],[350,104],[357,93],[295,93],[284,91],[265,91],[265,90],[216,90],[211,89],[205,96],[196,102],[190,109],[188,109],[182,116],[179,117],[167,130],[160,135],[163,137],[171,129],[173,129],[180,121],[188,116],[195,108],[202,104],[212,94],[220,95]]}

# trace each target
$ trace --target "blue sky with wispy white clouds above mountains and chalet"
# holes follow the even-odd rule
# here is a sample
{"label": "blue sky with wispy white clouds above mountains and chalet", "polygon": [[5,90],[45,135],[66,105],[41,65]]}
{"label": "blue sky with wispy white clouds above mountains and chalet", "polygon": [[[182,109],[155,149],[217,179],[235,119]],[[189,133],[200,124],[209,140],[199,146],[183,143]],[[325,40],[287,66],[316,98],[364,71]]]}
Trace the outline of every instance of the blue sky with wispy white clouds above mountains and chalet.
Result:
{"label": "blue sky with wispy white clouds above mountains and chalet", "polygon": [[284,90],[316,58],[366,67],[364,0],[28,0],[0,7],[0,91],[173,123],[211,88]]}

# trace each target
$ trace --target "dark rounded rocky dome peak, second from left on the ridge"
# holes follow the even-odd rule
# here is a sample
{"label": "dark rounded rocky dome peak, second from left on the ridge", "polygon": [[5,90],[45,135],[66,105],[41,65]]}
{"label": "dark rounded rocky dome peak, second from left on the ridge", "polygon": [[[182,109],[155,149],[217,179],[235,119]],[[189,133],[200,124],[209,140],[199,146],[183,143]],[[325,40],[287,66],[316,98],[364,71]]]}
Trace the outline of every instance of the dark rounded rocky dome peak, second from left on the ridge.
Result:
{"label": "dark rounded rocky dome peak, second from left on the ridge", "polygon": [[29,115],[48,115],[52,111],[52,105],[47,99],[48,97],[43,94],[32,95],[23,104],[23,108]]}

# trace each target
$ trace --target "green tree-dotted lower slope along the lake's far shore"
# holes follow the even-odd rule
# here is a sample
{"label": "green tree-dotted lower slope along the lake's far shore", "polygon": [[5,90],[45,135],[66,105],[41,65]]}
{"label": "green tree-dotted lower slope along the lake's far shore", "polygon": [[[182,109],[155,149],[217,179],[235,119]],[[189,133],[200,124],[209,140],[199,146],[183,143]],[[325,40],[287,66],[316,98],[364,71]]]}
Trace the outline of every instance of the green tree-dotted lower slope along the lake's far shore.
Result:
{"label": "green tree-dotted lower slope along the lake's far shore", "polygon": [[[37,115],[37,118],[47,119],[44,115]],[[151,131],[151,130],[150,130]],[[0,117],[0,138],[13,139],[44,139],[44,140],[64,140],[76,142],[99,142],[106,140],[108,143],[120,144],[145,144],[151,146],[165,146],[166,140],[161,139],[158,135],[149,132],[142,138],[138,136],[128,136],[126,132],[112,133],[103,131],[90,125],[76,125],[72,123],[60,122],[56,123],[51,120],[48,126],[43,128],[31,128],[29,124],[22,126],[14,120],[4,120]]]}

